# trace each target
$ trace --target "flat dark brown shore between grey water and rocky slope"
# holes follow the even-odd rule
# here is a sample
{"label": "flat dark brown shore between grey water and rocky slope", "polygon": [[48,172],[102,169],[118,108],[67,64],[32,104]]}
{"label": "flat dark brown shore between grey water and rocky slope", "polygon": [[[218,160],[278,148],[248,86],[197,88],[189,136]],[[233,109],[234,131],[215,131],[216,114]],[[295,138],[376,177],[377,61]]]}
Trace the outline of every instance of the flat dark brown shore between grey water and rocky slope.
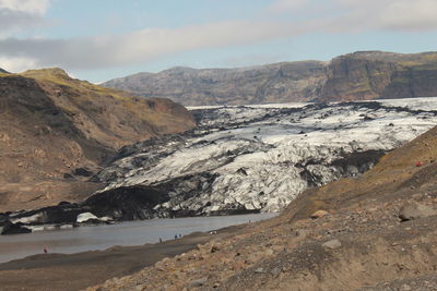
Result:
{"label": "flat dark brown shore between grey water and rocky slope", "polygon": [[198,232],[175,241],[141,246],[114,246],[78,254],[40,254],[0,264],[0,290],[81,290],[113,277],[127,276],[194,248],[212,239],[224,239],[240,229],[216,234]]}

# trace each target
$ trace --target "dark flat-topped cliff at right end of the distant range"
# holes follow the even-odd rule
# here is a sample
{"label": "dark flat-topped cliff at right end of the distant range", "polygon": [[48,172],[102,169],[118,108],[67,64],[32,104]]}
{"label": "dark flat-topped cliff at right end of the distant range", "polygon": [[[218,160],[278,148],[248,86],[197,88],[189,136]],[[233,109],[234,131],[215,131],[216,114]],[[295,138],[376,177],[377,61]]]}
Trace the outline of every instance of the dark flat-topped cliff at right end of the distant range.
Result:
{"label": "dark flat-topped cliff at right end of the distant range", "polygon": [[437,96],[435,52],[355,52],[333,59],[328,68],[317,101]]}

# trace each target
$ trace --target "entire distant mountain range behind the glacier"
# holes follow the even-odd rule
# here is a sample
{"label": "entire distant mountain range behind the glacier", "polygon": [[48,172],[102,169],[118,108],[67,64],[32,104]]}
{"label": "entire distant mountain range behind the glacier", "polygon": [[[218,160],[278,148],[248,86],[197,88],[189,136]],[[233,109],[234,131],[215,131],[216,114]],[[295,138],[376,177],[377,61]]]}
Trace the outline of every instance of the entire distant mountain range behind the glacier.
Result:
{"label": "entire distant mountain range behind the glacier", "polygon": [[358,51],[330,62],[240,68],[173,68],[103,84],[186,106],[342,101],[437,96],[437,52]]}

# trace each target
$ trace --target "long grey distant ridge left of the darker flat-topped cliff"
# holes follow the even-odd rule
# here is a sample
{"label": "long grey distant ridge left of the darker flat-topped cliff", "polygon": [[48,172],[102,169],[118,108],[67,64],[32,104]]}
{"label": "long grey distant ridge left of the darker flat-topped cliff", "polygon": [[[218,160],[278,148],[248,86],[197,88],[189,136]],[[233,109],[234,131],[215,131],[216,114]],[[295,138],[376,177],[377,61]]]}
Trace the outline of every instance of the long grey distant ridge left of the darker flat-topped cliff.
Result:
{"label": "long grey distant ridge left of the darker flat-topped cliff", "polygon": [[324,83],[323,62],[283,62],[244,69],[174,68],[139,73],[104,84],[143,97],[165,97],[184,105],[241,105],[308,101]]}

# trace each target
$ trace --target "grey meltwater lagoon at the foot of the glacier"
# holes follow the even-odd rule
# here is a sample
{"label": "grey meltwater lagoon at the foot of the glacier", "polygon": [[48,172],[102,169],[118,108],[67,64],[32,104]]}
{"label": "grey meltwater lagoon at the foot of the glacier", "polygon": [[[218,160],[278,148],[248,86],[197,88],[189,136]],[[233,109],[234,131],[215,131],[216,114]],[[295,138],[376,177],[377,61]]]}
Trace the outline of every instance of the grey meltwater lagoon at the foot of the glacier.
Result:
{"label": "grey meltwater lagoon at the foot of the glacier", "polygon": [[164,241],[172,240],[175,234],[185,235],[194,231],[209,231],[273,216],[275,214],[153,219],[111,226],[1,235],[0,263],[40,254],[45,246],[50,253],[78,253],[105,250],[113,245],[141,245],[156,243],[160,238]]}

